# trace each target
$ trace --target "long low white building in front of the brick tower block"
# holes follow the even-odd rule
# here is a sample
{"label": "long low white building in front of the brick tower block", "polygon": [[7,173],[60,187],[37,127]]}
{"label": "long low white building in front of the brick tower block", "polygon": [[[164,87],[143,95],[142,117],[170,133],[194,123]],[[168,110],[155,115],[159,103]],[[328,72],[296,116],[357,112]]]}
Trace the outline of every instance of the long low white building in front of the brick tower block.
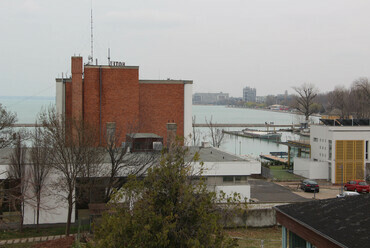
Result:
{"label": "long low white building in front of the brick tower block", "polygon": [[[11,151],[12,149],[10,148],[0,149],[0,181],[5,180],[7,177],[8,157]],[[239,193],[242,198],[246,197],[250,199],[248,177],[252,174],[261,174],[260,162],[235,156],[212,147],[190,147],[189,156],[194,156],[195,152],[198,152],[200,156],[200,161],[193,163],[193,174],[195,175],[195,179],[198,175],[197,172],[199,172],[201,168],[200,162],[203,162],[203,176],[207,181],[207,188],[209,190],[216,192],[222,190],[227,195],[236,192]],[[108,157],[107,161],[101,166],[107,169],[109,168]],[[104,172],[103,174],[107,175]],[[122,171],[121,177],[124,178],[126,176],[127,171]],[[100,178],[102,177],[100,176]],[[51,172],[41,197],[40,224],[66,223],[68,206],[65,197],[66,192],[61,191],[55,187],[55,185],[52,186],[58,181],[58,173],[56,171]],[[96,185],[94,198],[98,197],[101,193],[100,189],[101,185]],[[24,224],[35,224],[36,203],[31,187],[27,187],[26,195]],[[0,207],[2,206],[1,204],[3,204],[2,198],[0,198]],[[78,218],[76,213],[81,212],[80,210],[83,211],[83,209],[77,209],[76,204],[74,204],[72,223]]]}

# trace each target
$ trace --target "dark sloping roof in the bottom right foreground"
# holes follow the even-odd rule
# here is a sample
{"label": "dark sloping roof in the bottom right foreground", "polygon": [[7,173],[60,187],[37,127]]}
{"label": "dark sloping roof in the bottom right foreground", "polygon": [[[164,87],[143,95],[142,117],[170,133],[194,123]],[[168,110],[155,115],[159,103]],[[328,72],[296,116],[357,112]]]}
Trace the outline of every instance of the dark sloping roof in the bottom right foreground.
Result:
{"label": "dark sloping roof in the bottom right foreground", "polygon": [[275,207],[276,211],[342,247],[369,246],[369,208],[370,194]]}

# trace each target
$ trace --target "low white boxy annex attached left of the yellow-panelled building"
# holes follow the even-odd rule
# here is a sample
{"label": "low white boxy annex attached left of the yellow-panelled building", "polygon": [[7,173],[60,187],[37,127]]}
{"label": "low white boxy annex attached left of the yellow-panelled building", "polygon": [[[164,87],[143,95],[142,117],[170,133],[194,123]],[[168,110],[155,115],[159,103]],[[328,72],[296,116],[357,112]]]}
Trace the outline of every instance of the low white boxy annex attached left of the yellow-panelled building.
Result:
{"label": "low white boxy annex attached left of the yellow-panelled building", "polygon": [[328,163],[307,158],[295,158],[293,173],[309,179],[328,179]]}

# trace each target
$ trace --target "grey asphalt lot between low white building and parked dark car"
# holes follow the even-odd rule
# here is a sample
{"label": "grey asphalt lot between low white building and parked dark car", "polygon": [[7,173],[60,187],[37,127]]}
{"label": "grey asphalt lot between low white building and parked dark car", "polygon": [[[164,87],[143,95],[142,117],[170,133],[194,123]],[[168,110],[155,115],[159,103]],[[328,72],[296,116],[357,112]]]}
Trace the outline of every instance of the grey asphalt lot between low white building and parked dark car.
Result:
{"label": "grey asphalt lot between low white building and parked dark car", "polygon": [[258,202],[304,202],[310,199],[291,192],[288,188],[262,179],[248,180],[251,185],[251,198]]}

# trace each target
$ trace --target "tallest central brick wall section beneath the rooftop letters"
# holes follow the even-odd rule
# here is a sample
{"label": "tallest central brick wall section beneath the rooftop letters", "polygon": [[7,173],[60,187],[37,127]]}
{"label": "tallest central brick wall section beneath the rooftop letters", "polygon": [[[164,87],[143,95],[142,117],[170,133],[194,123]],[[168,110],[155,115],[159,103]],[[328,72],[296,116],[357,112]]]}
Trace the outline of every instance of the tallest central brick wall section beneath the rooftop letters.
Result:
{"label": "tallest central brick wall section beneath the rooftop letters", "polygon": [[[99,72],[101,70],[101,73]],[[106,124],[116,123],[119,141],[125,140],[127,132],[137,132],[139,119],[139,71],[128,68],[86,66],[84,73],[84,120],[100,126],[101,94],[101,139],[104,140]],[[100,93],[100,76],[102,91]]]}

